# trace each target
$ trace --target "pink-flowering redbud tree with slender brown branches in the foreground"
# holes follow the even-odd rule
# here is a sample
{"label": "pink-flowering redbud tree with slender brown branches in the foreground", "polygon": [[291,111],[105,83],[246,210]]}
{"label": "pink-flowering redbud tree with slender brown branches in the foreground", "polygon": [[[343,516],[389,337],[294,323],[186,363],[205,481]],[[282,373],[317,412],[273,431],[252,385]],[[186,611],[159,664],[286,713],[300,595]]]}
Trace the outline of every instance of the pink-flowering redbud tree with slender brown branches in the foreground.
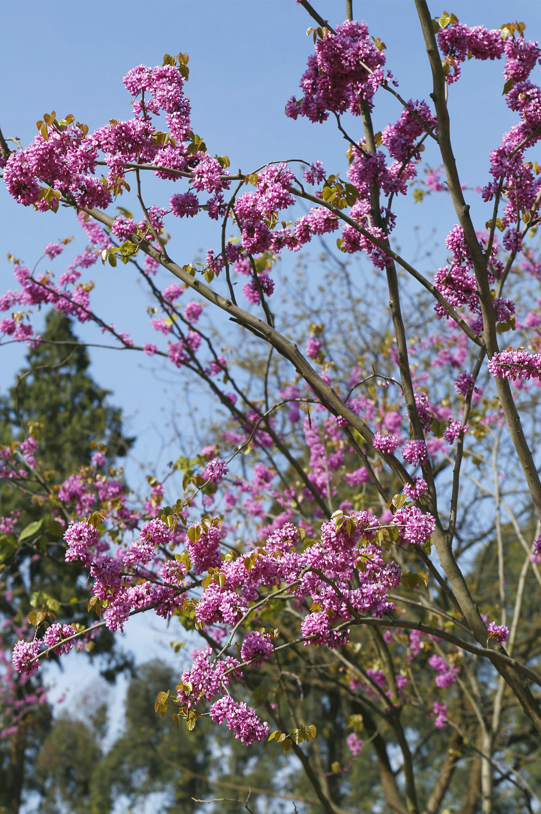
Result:
{"label": "pink-flowering redbud tree with slender brown branches in the foreground", "polygon": [[[4,585],[12,552],[46,534],[45,548],[63,545],[66,562],[84,567],[98,615],[56,621],[45,597],[11,664],[28,681],[47,657],[123,630],[131,615],[177,617],[202,646],[156,712],[190,732],[209,716],[247,747],[293,752],[319,810],[344,810],[347,771],[363,759],[377,763],[377,791],[351,810],[435,814],[462,801],[487,814],[506,810],[506,794],[530,807],[539,799],[526,761],[541,734],[539,48],[523,23],[432,19],[416,0],[433,90],[406,98],[381,32],[354,20],[351,2],[334,28],[299,5],[314,50],[286,116],[336,126],[335,172],[312,155],[233,172],[194,130],[185,53],[129,70],[129,119],[90,133],[51,112],[27,147],[0,138],[7,193],[38,212],[72,208],[89,241],[58,276],[12,258],[6,340],[38,344],[33,313],[51,305],[94,322],[107,344],[199,380],[228,416],[213,443],[149,476],[141,504],[107,449],[62,483],[41,469],[33,427],[2,449],[0,476],[31,490],[56,523],[43,532],[2,519]],[[502,105],[515,116],[474,190],[480,223],[447,108],[467,60],[469,71],[476,60],[504,66]],[[396,118],[377,129],[385,94]],[[420,173],[427,146],[436,160]],[[167,208],[149,200],[150,174]],[[111,212],[123,194],[137,217]],[[425,195],[449,196],[455,213],[447,262],[430,274],[393,236],[400,199]],[[199,263],[168,234],[181,237],[194,217],[216,221]],[[321,308],[309,278],[289,289],[293,300],[278,297],[278,260],[312,241],[332,241],[338,258]],[[50,243],[44,256],[62,251]],[[100,316],[98,290],[81,282],[99,262],[148,287],[146,343]],[[323,696],[338,699],[343,749],[308,702]]]}

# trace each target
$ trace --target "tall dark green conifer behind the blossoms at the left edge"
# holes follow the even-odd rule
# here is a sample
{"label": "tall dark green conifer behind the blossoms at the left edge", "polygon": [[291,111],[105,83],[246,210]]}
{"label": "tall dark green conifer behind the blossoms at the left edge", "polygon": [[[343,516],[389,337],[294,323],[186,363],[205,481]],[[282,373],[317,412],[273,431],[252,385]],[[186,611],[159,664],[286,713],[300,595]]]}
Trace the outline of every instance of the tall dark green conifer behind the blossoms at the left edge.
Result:
{"label": "tall dark green conifer behind the blossoms at the left edge", "polygon": [[[26,617],[37,606],[53,613],[62,609],[63,616],[78,623],[87,619],[85,592],[78,584],[81,567],[72,563],[66,568],[63,563],[63,529],[55,520],[62,504],[56,501],[56,511],[54,505],[44,511],[35,501],[37,488],[45,486],[51,493],[53,484],[61,484],[81,467],[92,467],[98,449],[107,449],[112,463],[133,442],[122,434],[120,409],[107,403],[110,393],[89,375],[89,354],[73,334],[68,317],[58,311],[47,313],[41,344],[29,350],[27,361],[28,367],[0,400],[2,444],[24,441],[32,433],[40,438],[31,477],[22,483],[3,479],[0,485],[2,654],[28,628]],[[25,529],[31,533],[24,535]],[[129,660],[113,650],[112,637],[97,644],[94,653],[103,656],[103,671],[110,680],[129,667]],[[19,810],[23,790],[34,788],[34,773],[28,769],[50,728],[50,707],[43,703],[46,690],[41,681],[17,680],[10,663],[4,663],[2,681],[0,806],[12,814]],[[41,706],[36,706],[36,698]]]}

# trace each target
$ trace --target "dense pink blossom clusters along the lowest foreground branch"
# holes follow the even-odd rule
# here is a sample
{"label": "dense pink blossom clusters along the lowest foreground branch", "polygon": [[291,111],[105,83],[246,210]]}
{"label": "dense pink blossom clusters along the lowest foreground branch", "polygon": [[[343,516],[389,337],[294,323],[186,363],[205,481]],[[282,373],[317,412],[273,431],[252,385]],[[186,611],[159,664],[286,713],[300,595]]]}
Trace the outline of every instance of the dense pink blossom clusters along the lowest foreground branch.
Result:
{"label": "dense pink blossom clusters along the lowest foreground branch", "polygon": [[[421,514],[411,504],[403,505],[390,525],[406,544],[424,545],[434,531],[430,514]],[[158,518],[144,523],[138,539],[117,549],[114,557],[108,553],[109,546],[99,542],[102,532],[88,521],[71,523],[64,540],[68,545],[66,560],[79,559],[89,568],[94,578],[93,602],[102,603],[103,623],[112,631],[123,630],[129,615],[139,610],[154,608],[168,618],[192,606],[199,627],[225,631],[254,613],[256,619],[249,603],[262,591],[278,590],[287,591],[299,607],[309,606],[300,625],[305,644],[335,648],[347,644],[347,625],[356,622],[359,615],[380,617],[394,608],[386,593],[399,584],[401,572],[396,562],[385,561],[382,549],[374,543],[380,527],[375,516],[366,511],[338,511],[322,524],[321,540],[308,548],[302,545],[303,530],[284,523],[263,545],[235,559],[221,553],[218,523],[191,523],[181,535],[185,553],[174,560],[168,559],[168,552],[181,540]],[[195,584],[186,581],[189,569],[194,575],[209,573],[195,604],[184,597]],[[281,589],[284,584],[286,589]],[[68,653],[75,634],[70,625],[52,624],[41,640],[20,640],[13,651],[14,667],[22,675],[36,672],[44,648],[55,654]],[[243,662],[260,665],[273,654],[271,637],[264,631],[248,632],[240,653]],[[181,707],[190,710],[222,695],[229,686],[229,676],[242,676],[236,669],[238,659],[228,655],[211,661],[211,655],[212,650],[202,650],[182,674],[177,698]],[[211,717],[218,723],[225,720],[244,743],[268,733],[255,711],[227,695],[213,703]]]}

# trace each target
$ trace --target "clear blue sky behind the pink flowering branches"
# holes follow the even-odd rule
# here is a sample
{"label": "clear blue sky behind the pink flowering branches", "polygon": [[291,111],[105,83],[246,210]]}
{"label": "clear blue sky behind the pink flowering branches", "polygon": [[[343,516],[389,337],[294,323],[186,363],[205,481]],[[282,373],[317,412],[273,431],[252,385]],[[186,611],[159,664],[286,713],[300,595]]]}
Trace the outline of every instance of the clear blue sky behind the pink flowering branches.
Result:
{"label": "clear blue sky behind the pink flowering branches", "polygon": [[[313,5],[331,24],[342,20],[342,0],[313,0]],[[441,14],[444,7],[470,25],[497,28],[508,20],[524,20],[526,37],[541,39],[541,4],[534,0],[430,2],[433,15]],[[404,98],[428,98],[431,81],[413,3],[354,0],[354,14],[367,20],[371,33],[386,42],[387,67],[399,79]],[[268,160],[289,158],[319,159],[335,172],[343,172],[347,166],[344,142],[330,121],[310,125],[284,116],[286,100],[297,92],[312,51],[312,39],[305,33],[312,21],[293,0],[20,0],[0,2],[0,20],[0,126],[5,136],[19,136],[24,145],[36,132],[36,120],[52,109],[62,116],[72,112],[90,129],[110,118],[128,118],[130,99],[121,83],[124,74],[133,65],[159,64],[164,53],[182,50],[190,54],[186,92],[194,129],[203,135],[212,154],[229,155],[233,171],[240,167],[249,172]],[[462,80],[451,89],[455,155],[463,180],[472,186],[486,182],[487,152],[514,123],[501,98],[502,69],[501,63],[466,63]],[[394,100],[378,94],[377,129],[399,113]],[[351,128],[358,132],[358,120],[351,121]],[[429,149],[426,155],[430,159]],[[149,199],[158,202],[185,188],[153,179],[147,183]],[[124,199],[120,203],[125,204]],[[471,204],[484,224],[488,214],[482,211],[482,204],[473,195]],[[414,226],[421,225],[428,234],[432,226],[441,233],[455,223],[446,198],[430,199],[430,205],[421,206],[400,203],[397,209],[396,236],[407,259],[413,252]],[[2,189],[0,223],[2,292],[14,285],[11,266],[4,259],[7,252],[33,265],[50,240],[78,234],[70,212],[38,214],[15,204]],[[203,217],[188,227],[169,225],[170,230],[173,227],[172,256],[181,263],[217,243],[215,224]],[[53,269],[58,273],[63,261],[63,257],[55,260]],[[146,296],[129,269],[97,266],[89,277],[98,282],[93,301],[107,322],[130,330],[135,339],[153,339],[147,328]],[[165,277],[161,279],[167,284]],[[100,338],[86,327],[79,333],[90,341]],[[0,348],[0,354],[0,388],[4,388],[20,366],[24,349],[10,345]],[[169,376],[167,384],[160,383],[152,373],[152,363],[136,354],[93,351],[92,359],[98,383],[114,391],[113,400],[131,417],[129,430],[140,439],[137,458],[153,461],[160,426],[167,420],[172,401],[178,401],[181,394],[178,380]],[[134,465],[132,472],[135,476]],[[141,622],[137,628],[137,641],[144,641],[146,658],[158,652],[156,648],[162,652],[156,644],[156,624]],[[176,636],[177,631],[159,640]],[[59,678],[60,688],[85,681],[86,661],[70,658],[69,663],[70,669]]]}

